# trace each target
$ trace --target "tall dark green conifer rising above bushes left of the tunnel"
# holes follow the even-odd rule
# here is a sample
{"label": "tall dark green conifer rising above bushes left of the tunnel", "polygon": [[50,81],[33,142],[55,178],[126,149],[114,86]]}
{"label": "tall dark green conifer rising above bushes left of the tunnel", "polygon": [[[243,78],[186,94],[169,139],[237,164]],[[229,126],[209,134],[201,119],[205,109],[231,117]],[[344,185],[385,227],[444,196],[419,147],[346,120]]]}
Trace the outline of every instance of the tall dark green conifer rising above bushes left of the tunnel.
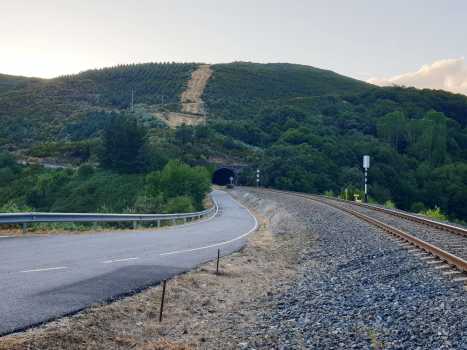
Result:
{"label": "tall dark green conifer rising above bushes left of the tunnel", "polygon": [[137,174],[147,167],[144,155],[146,129],[135,118],[112,116],[102,135],[100,166],[120,174]]}

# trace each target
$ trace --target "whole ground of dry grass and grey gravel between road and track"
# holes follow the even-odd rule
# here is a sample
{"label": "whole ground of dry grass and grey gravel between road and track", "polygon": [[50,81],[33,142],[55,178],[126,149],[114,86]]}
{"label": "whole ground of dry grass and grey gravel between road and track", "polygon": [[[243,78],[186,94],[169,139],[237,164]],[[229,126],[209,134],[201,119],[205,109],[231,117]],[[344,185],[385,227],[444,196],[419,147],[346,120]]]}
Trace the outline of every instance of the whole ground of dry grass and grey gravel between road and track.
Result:
{"label": "whole ground of dry grass and grey gravel between road and track", "polygon": [[240,252],[0,349],[467,349],[467,293],[379,229],[302,198],[228,193],[261,228]]}

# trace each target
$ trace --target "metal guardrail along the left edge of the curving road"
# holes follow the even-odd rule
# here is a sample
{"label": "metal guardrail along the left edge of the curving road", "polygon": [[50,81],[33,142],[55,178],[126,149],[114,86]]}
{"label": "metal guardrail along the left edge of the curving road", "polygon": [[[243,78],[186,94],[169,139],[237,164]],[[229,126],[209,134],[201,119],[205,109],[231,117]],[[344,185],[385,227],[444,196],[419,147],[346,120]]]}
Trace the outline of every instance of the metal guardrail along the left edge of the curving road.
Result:
{"label": "metal guardrail along the left edge of the curving road", "polygon": [[173,226],[176,219],[187,218],[192,221],[206,217],[216,209],[216,201],[212,200],[212,207],[207,210],[194,213],[178,214],[86,214],[86,213],[7,213],[0,214],[0,225],[23,224],[23,233],[27,232],[27,224],[50,223],[50,222],[93,222],[94,230],[97,229],[98,222],[122,222],[133,221],[133,228],[136,229],[139,221],[157,221],[157,227],[160,227],[161,220],[173,220]]}

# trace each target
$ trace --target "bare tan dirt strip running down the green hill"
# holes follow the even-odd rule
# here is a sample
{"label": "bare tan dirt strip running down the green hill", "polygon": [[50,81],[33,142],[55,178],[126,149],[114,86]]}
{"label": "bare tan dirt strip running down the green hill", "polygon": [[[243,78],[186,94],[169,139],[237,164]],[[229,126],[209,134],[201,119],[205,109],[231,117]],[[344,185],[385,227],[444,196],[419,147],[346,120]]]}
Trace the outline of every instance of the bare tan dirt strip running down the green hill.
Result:
{"label": "bare tan dirt strip running down the green hill", "polygon": [[158,112],[156,113],[156,117],[169,124],[171,129],[175,129],[177,126],[182,124],[200,124],[204,120],[203,117],[200,116],[204,114],[204,102],[201,100],[201,95],[211,74],[212,70],[209,68],[209,65],[200,65],[197,70],[191,73],[191,79],[188,82],[188,88],[182,94],[180,102],[183,106],[183,113]]}

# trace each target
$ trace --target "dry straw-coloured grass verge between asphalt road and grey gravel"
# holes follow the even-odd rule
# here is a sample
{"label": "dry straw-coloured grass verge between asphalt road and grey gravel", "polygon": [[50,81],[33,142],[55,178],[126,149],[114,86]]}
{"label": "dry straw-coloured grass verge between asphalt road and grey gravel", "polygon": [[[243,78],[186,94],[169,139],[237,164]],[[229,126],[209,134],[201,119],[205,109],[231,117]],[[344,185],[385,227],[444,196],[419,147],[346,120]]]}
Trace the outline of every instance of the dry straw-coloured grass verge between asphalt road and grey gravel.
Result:
{"label": "dry straw-coloured grass verge between asphalt road and grey gravel", "polygon": [[242,341],[259,348],[275,343],[278,335],[262,317],[275,312],[274,298],[294,284],[303,268],[295,258],[311,241],[303,233],[274,237],[268,222],[255,215],[259,230],[241,252],[221,258],[219,276],[212,261],[167,282],[162,323],[157,286],[0,338],[0,349],[234,349]]}

